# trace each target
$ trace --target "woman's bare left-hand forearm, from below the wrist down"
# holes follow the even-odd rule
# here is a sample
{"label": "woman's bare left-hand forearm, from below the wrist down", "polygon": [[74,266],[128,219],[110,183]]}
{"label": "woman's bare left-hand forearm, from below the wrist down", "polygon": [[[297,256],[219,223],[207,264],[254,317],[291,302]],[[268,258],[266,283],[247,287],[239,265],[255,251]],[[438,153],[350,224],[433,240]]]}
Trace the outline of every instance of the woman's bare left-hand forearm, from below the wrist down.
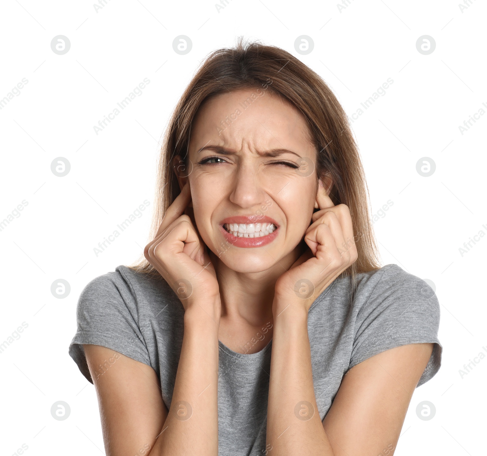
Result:
{"label": "woman's bare left-hand forearm, from below the wrist down", "polygon": [[169,415],[151,455],[218,455],[219,321],[212,304],[187,309]]}

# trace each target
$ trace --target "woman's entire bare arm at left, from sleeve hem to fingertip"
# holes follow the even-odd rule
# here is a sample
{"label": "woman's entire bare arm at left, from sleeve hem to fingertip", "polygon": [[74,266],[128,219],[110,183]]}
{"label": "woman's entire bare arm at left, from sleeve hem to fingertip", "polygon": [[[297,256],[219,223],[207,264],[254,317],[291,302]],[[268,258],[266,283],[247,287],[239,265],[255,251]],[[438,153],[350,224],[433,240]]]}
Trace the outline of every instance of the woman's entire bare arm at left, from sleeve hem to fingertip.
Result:
{"label": "woman's entire bare arm at left, from sleeve hem to fingertip", "polygon": [[[144,249],[185,308],[176,378],[172,391],[165,391],[172,396],[169,411],[154,369],[118,354],[113,367],[96,375],[113,350],[83,345],[98,393],[107,455],[142,454],[137,448],[144,443],[154,456],[174,455],[175,448],[181,455],[218,454],[220,293],[206,245],[184,214],[190,199],[185,185]],[[181,411],[190,414],[182,416]]]}

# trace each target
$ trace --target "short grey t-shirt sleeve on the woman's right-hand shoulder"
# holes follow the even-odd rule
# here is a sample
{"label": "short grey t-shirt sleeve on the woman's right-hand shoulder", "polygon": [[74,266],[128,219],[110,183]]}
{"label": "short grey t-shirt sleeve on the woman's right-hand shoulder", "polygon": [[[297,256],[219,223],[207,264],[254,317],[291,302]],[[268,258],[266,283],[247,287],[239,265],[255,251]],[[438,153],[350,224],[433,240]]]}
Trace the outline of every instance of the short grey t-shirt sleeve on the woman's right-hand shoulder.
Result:
{"label": "short grey t-shirt sleeve on the woman's right-hand shoulder", "polygon": [[440,305],[430,285],[395,264],[384,266],[357,313],[349,369],[390,348],[431,342],[433,352],[416,387],[426,383],[441,366],[439,323]]}

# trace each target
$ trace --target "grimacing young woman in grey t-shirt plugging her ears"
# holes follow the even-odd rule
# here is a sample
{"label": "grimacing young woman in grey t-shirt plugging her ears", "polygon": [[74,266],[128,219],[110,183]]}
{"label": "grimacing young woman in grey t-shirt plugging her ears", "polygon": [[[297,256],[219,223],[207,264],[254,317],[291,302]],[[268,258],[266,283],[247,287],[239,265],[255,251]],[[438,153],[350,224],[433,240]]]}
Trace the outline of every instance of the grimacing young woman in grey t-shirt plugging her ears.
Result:
{"label": "grimacing young woman in grey t-shirt plugging her ears", "polygon": [[389,455],[440,367],[439,305],[380,266],[347,117],[286,51],[239,42],[190,82],[145,259],[92,280],[70,355],[107,455]]}

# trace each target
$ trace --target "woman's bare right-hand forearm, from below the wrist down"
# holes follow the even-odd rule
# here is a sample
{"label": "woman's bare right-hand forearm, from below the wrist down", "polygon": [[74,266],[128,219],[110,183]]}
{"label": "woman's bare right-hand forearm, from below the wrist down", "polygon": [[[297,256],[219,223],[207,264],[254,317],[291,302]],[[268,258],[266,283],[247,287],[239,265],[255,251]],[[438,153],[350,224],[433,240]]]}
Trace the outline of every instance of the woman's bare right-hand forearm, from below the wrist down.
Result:
{"label": "woman's bare right-hand forearm, from below the wrist down", "polygon": [[316,405],[307,311],[296,303],[286,305],[273,307],[268,454],[333,456]]}

